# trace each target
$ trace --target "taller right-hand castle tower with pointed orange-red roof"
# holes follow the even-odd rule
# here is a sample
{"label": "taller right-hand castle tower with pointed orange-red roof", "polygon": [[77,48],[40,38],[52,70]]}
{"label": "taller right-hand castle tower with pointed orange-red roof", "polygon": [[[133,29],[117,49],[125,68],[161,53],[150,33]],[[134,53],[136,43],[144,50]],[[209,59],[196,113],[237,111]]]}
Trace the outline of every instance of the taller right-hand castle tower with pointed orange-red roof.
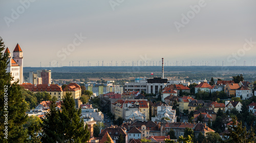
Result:
{"label": "taller right-hand castle tower with pointed orange-red roof", "polygon": [[23,83],[23,51],[19,47],[18,43],[13,50],[13,58],[12,58],[18,65],[19,65],[19,84]]}

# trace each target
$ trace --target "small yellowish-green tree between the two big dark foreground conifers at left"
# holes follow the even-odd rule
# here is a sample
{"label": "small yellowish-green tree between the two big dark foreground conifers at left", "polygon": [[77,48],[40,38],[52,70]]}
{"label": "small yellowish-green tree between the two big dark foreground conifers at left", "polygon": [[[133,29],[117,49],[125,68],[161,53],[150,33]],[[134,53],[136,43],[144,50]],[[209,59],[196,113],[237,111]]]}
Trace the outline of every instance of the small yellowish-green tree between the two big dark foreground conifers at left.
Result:
{"label": "small yellowish-green tree between the two big dark foreground conifers at left", "polygon": [[28,122],[24,124],[24,128],[28,129],[29,139],[28,142],[40,142],[39,133],[42,132],[41,130],[42,121],[37,116],[30,116],[28,117]]}

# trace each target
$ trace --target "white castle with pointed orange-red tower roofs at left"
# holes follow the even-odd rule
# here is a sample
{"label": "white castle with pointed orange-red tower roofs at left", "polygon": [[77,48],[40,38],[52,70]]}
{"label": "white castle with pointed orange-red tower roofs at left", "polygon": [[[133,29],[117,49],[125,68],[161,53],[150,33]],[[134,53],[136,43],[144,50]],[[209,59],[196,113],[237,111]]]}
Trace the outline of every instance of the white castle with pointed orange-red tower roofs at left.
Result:
{"label": "white castle with pointed orange-red tower roofs at left", "polygon": [[23,83],[23,51],[20,46],[17,44],[13,50],[13,57],[11,57],[11,52],[7,47],[5,53],[9,53],[9,64],[7,66],[7,72],[10,72],[13,76],[11,83],[19,80],[18,84]]}

